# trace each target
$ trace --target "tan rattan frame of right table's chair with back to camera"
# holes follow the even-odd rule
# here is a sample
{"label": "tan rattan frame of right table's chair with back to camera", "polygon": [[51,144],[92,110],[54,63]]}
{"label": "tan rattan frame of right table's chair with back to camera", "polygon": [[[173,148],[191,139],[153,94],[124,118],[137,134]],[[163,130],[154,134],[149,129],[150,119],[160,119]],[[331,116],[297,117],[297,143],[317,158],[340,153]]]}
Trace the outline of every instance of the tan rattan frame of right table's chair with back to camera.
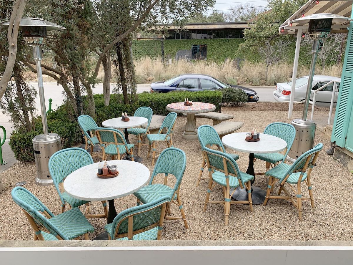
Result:
{"label": "tan rattan frame of right table's chair with back to camera", "polygon": [[[247,181],[246,183],[243,182],[243,179],[241,178],[241,175],[239,173],[239,171],[237,170],[237,168],[234,166],[236,164],[236,162],[234,161],[234,159],[232,159],[229,155],[227,154],[222,154],[219,151],[214,151],[210,148],[207,147],[203,147],[202,148],[203,151],[203,156],[206,159],[206,163],[207,163],[207,167],[208,167],[208,174],[209,174],[209,184],[208,184],[208,191],[206,193],[206,199],[205,199],[205,203],[203,206],[203,212],[206,212],[206,207],[208,204],[222,204],[224,206],[224,214],[225,214],[225,225],[228,225],[229,222],[229,213],[230,213],[230,207],[232,204],[249,204],[250,206],[250,211],[253,211],[253,207],[252,207],[252,197],[251,197],[251,183],[250,180]],[[209,157],[207,154],[212,154],[212,155],[216,155],[218,157],[222,158],[223,161],[223,168],[224,169],[220,169],[215,167],[214,165],[212,165],[210,163]],[[229,163],[228,165],[232,166],[232,169],[234,172],[238,172],[237,174],[231,173],[228,171],[228,167],[227,167],[227,163]],[[221,201],[210,201],[210,194],[211,191],[213,190],[213,188],[216,186],[217,183],[214,183],[213,178],[212,178],[212,171],[220,171],[223,172],[225,174],[226,177],[226,187],[222,186],[223,189],[223,196],[224,199]],[[239,176],[238,176],[239,174]],[[235,190],[237,190],[237,188],[235,188],[232,192],[232,194],[230,193],[230,187],[229,187],[229,175],[238,178],[239,181],[239,187],[241,189],[243,189],[244,187],[246,188],[246,190],[248,191],[248,200],[247,201],[231,201],[232,195],[234,194]]]}

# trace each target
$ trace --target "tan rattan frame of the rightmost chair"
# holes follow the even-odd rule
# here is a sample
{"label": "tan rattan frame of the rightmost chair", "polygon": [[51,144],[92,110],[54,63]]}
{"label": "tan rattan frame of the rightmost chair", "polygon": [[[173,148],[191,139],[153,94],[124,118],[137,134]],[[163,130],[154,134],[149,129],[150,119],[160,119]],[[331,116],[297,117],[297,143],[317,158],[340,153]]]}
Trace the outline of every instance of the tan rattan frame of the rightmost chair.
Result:
{"label": "tan rattan frame of the rightmost chair", "polygon": [[[317,148],[317,146],[315,147]],[[313,149],[315,149],[313,148]],[[301,157],[305,157],[305,154],[307,154],[308,152],[312,151],[313,149],[307,151],[306,153],[302,154]],[[268,188],[267,188],[267,192],[266,192],[266,197],[265,197],[265,201],[263,202],[263,206],[265,206],[268,202],[269,199],[285,199],[285,200],[288,200],[288,201],[291,201],[292,204],[294,205],[295,208],[297,208],[298,210],[298,216],[299,216],[299,220],[303,220],[303,214],[302,214],[302,201],[303,200],[307,200],[307,201],[310,201],[311,202],[311,207],[314,208],[315,205],[314,205],[314,196],[313,196],[313,193],[312,193],[312,186],[311,186],[311,172],[312,172],[312,169],[316,163],[316,160],[317,160],[317,157],[320,153],[322,149],[322,144],[321,144],[321,148],[318,150],[318,151],[315,151],[313,152],[312,154],[310,154],[306,160],[305,160],[305,164],[304,166],[299,169],[300,165],[302,163],[300,162],[297,162],[297,163],[294,163],[291,168],[288,170],[288,172],[291,172],[292,173],[297,173],[297,172],[300,172],[300,177],[298,179],[298,183],[297,183],[297,190],[295,190],[293,187],[292,187],[292,184],[286,182],[287,179],[292,175],[292,173],[288,173],[286,174],[285,176],[283,176],[282,179],[277,179],[271,175],[269,175],[269,181],[268,181]],[[300,157],[298,158],[297,161],[300,160]],[[293,169],[294,167],[294,169]],[[296,168],[298,168],[298,170]],[[303,179],[303,176],[304,176],[304,173],[306,172],[307,174],[307,177],[306,179],[304,180],[304,182],[306,183],[307,185],[307,188],[309,190],[309,197],[302,197],[301,195],[301,183],[303,182],[302,179]],[[279,182],[280,183],[280,189],[279,189],[279,192],[277,195],[271,195],[271,191],[273,190],[273,187],[275,185],[275,183]],[[294,195],[292,195],[291,192],[289,192],[289,190],[285,187],[285,184],[288,185],[288,187],[294,192]],[[285,196],[281,196],[281,193],[282,191],[285,193]]]}

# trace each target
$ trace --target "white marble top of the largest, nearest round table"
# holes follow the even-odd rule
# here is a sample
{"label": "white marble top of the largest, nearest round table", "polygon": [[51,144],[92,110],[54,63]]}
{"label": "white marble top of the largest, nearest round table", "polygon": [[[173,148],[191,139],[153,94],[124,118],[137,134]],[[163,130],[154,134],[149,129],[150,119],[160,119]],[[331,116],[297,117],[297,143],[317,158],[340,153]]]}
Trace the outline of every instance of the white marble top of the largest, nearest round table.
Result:
{"label": "white marble top of the largest, nearest round table", "polygon": [[130,160],[110,160],[117,165],[119,175],[114,178],[98,178],[98,163],[81,167],[64,181],[64,190],[73,198],[85,201],[103,201],[121,198],[144,187],[150,177],[149,169]]}

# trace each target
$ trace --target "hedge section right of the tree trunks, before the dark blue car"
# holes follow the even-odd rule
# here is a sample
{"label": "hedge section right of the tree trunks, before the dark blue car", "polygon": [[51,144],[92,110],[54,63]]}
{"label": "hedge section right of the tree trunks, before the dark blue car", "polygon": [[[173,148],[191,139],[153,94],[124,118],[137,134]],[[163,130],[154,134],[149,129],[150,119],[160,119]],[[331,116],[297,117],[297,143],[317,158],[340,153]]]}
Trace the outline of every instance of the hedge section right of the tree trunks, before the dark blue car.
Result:
{"label": "hedge section right of the tree trunks, before the dark blue car", "polygon": [[152,108],[154,115],[167,115],[166,106],[174,102],[184,102],[185,98],[194,102],[207,102],[219,109],[222,102],[222,93],[217,91],[200,91],[200,92],[169,92],[169,93],[145,93],[138,95],[140,106]]}

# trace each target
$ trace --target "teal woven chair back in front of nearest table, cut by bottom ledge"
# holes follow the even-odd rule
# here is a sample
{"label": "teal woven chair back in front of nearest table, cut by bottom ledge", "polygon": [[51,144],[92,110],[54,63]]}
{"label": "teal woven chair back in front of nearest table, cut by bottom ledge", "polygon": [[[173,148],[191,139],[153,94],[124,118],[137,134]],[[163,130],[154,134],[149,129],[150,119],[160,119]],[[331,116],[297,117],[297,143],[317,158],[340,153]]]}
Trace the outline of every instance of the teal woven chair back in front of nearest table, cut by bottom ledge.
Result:
{"label": "teal woven chair back in front of nearest table, cut by bottom ledge", "polygon": [[[170,196],[162,196],[155,201],[134,206],[120,212],[113,220],[111,232],[113,236],[111,239],[115,240],[116,238],[126,237],[129,232],[131,235],[139,234],[140,232],[156,227],[160,220],[165,218],[169,204]],[[164,216],[161,216],[163,205],[166,205],[166,211]],[[162,227],[159,229],[162,229]]]}

